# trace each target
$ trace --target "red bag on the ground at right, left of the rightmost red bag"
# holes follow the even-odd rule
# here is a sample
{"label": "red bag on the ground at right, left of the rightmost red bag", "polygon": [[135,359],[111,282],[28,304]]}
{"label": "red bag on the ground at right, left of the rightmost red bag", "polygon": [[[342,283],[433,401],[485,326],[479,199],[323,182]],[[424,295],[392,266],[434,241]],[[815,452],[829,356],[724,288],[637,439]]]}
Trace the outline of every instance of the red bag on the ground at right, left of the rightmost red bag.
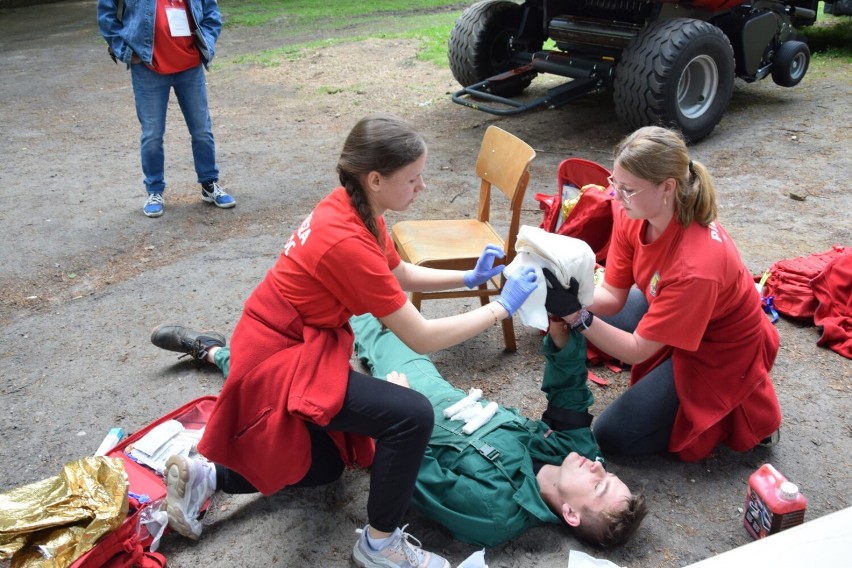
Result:
{"label": "red bag on the ground at right, left of the rightmost red bag", "polygon": [[772,297],[778,313],[794,318],[812,319],[819,305],[814,296],[811,280],[816,278],[829,262],[843,254],[850,254],[841,245],[831,250],[807,256],[779,260],[769,267],[761,296]]}

